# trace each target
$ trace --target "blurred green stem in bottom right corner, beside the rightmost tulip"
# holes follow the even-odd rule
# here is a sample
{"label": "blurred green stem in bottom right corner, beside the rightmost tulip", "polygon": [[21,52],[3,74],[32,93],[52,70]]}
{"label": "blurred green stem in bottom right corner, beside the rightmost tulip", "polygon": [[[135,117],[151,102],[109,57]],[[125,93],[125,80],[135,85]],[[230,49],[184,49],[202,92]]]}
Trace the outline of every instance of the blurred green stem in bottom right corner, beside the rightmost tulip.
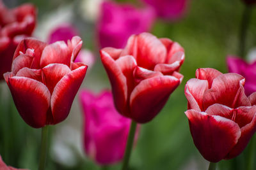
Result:
{"label": "blurred green stem in bottom right corner, beside the rightmost tulip", "polygon": [[255,169],[254,168],[254,161],[255,161],[255,144],[256,144],[256,136],[253,135],[252,136],[252,139],[251,139],[251,142],[250,142],[250,145],[249,145],[249,154],[248,154],[248,159],[247,159],[247,169],[248,170],[253,170]]}

